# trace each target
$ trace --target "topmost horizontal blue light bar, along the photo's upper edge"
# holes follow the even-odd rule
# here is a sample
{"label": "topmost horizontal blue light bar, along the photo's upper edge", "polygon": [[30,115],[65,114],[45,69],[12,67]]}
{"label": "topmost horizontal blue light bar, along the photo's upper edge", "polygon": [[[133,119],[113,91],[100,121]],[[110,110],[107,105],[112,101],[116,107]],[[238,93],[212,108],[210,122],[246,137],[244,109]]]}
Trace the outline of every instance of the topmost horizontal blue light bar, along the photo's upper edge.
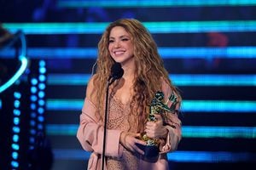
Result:
{"label": "topmost horizontal blue light bar, along the photo's upper edge", "polygon": [[219,6],[255,6],[255,1],[250,0],[58,0],[57,7],[59,8],[178,8],[178,7],[219,7]]}

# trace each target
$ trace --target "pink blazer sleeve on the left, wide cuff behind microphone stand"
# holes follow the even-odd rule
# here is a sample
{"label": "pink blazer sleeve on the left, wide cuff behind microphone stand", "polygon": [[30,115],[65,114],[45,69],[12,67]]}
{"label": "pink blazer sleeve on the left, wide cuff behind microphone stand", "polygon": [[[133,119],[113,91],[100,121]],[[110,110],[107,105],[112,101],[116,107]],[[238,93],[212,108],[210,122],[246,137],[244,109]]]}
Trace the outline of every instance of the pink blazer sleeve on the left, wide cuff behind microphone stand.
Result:
{"label": "pink blazer sleeve on the left, wide cuff behind microphone stand", "polygon": [[[79,129],[77,138],[84,150],[102,154],[103,145],[103,126],[96,118],[96,106],[89,99],[84,99],[84,106],[80,114]],[[120,157],[123,147],[119,144],[121,131],[108,130],[106,136],[105,155]]]}

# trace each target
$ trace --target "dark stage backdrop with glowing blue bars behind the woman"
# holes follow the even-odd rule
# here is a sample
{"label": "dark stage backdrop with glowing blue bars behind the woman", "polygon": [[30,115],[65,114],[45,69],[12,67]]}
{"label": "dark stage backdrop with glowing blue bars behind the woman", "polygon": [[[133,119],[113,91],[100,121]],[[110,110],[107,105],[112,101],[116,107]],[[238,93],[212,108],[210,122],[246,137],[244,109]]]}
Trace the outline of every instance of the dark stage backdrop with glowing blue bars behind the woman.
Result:
{"label": "dark stage backdrop with glowing blue bars behind the woman", "polygon": [[[104,2],[107,6],[102,5]],[[86,169],[90,153],[82,150],[75,134],[86,82],[96,61],[97,43],[107,26],[96,24],[119,18],[154,22],[154,31],[146,26],[152,31],[173,83],[181,90],[183,139],[177,151],[168,156],[170,169],[255,166],[256,3],[122,2],[0,1],[2,28],[13,35],[18,30],[24,32],[29,59],[19,81],[0,94],[0,169],[47,169],[46,165],[54,170]],[[137,5],[132,6],[132,2]],[[216,27],[207,21],[214,21]],[[171,22],[172,29],[163,32],[158,29],[160,22]],[[189,24],[183,26],[183,22]],[[41,24],[45,25],[40,27]],[[53,31],[55,24],[57,29]],[[86,31],[86,24],[92,24],[95,32]],[[65,26],[69,29],[63,33]],[[193,30],[193,26],[198,29]],[[15,38],[9,41],[0,43],[1,85],[20,66],[20,42]],[[166,53],[164,48],[168,49]],[[201,53],[201,49],[206,51]],[[223,51],[218,53],[219,50]],[[40,71],[42,68],[46,71]],[[40,80],[40,75],[46,80]],[[31,97],[33,79],[38,80],[35,100]],[[45,88],[38,88],[39,82]],[[21,94],[20,122],[16,124],[15,92]],[[45,95],[40,97],[39,92]],[[44,101],[42,105],[39,99]],[[43,110],[40,112],[39,108]],[[14,127],[19,127],[20,132],[15,133]],[[18,141],[14,141],[14,134],[19,135]],[[18,144],[19,149],[13,144]]]}

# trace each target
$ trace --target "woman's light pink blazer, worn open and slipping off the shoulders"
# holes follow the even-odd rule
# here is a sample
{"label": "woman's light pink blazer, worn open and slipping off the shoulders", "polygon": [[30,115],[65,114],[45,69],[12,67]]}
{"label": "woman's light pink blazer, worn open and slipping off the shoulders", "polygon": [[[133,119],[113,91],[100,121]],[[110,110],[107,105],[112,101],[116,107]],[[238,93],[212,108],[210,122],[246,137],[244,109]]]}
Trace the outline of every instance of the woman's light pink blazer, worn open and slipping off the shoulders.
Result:
{"label": "woman's light pink blazer, worn open and slipping off the shoulders", "polygon": [[[165,94],[167,101],[168,97],[172,94],[172,90],[166,82],[163,82],[162,87],[162,91]],[[171,104],[168,103],[168,105]],[[177,105],[177,107],[179,107],[179,105]],[[103,143],[103,127],[102,122],[99,121],[95,113],[96,106],[89,99],[85,98],[82,113],[80,115],[80,124],[77,132],[77,138],[79,139],[79,142],[82,145],[83,149],[91,152],[87,167],[87,169],[91,170],[101,169],[102,166],[101,155]],[[166,141],[162,141],[160,144],[159,160],[154,163],[149,163],[148,161],[141,160],[140,169],[168,169],[166,153],[177,150],[177,144],[181,139],[181,122],[177,118],[177,115],[172,114],[168,114],[166,122],[172,127],[166,126],[169,131],[169,135],[167,136]],[[120,130],[107,130],[105,150],[106,156],[122,156],[124,148],[121,144],[119,144],[120,133]],[[105,169],[107,169],[106,165],[104,167]]]}

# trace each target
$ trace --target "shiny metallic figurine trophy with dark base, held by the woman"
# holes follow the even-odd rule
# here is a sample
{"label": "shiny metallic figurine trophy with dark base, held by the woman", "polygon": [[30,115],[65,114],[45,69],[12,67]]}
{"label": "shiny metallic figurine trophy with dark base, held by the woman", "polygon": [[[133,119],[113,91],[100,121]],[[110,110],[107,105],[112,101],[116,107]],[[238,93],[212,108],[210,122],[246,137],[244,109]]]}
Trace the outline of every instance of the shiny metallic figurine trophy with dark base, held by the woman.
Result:
{"label": "shiny metallic figurine trophy with dark base, held by the woman", "polygon": [[[148,114],[148,121],[149,122],[156,122],[156,118],[154,114],[163,114],[163,113],[175,113],[176,105],[177,105],[177,96],[172,93],[169,97],[169,100],[172,102],[172,105],[169,107],[167,104],[164,103],[165,95],[158,91],[154,95],[154,99],[151,100],[150,110]],[[141,134],[141,138],[146,142],[146,146],[140,146],[144,150],[144,156],[148,160],[153,160],[157,158],[159,155],[159,139],[151,139],[148,138],[147,134],[144,132]]]}

